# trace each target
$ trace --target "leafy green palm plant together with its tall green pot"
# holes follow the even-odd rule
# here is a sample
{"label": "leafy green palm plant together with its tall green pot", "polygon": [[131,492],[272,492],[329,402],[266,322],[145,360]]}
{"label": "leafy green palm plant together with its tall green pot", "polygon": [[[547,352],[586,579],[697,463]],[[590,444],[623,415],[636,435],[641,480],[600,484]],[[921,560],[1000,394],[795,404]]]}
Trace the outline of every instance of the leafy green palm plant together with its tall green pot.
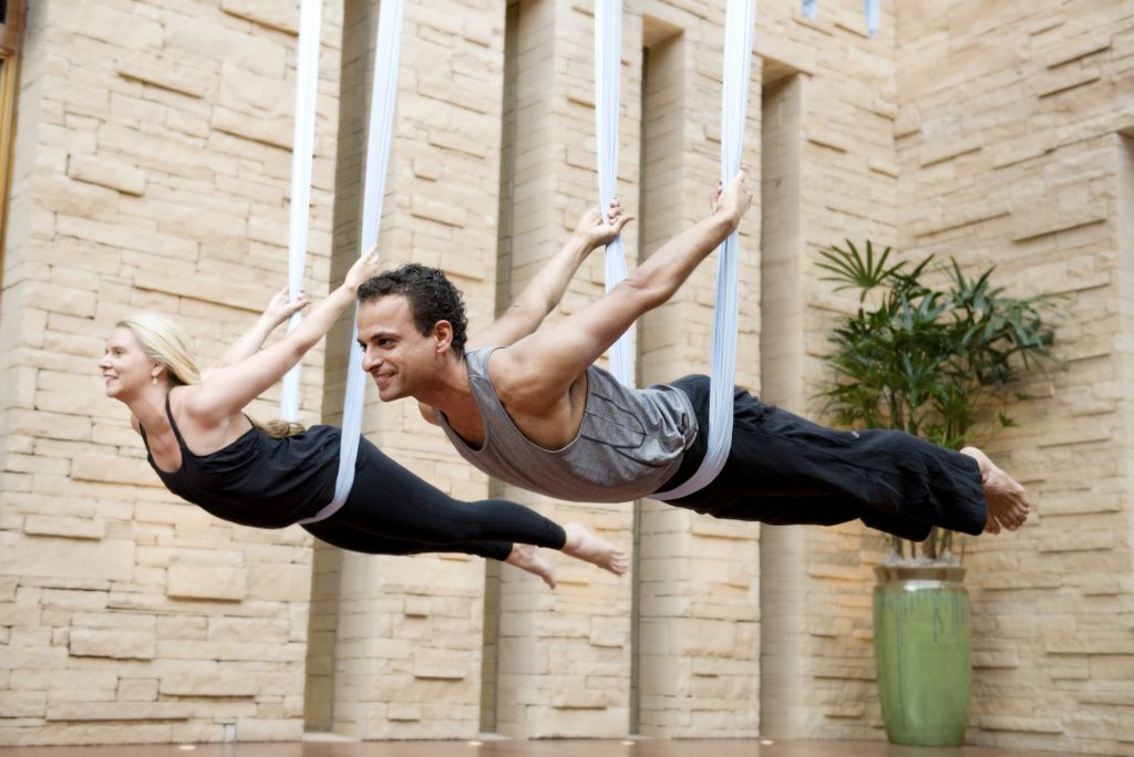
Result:
{"label": "leafy green palm plant together with its tall green pot", "polygon": [[[890,248],[845,248],[818,265],[837,290],[858,292],[824,356],[832,381],[821,393],[839,425],[897,428],[959,450],[982,426],[1013,425],[998,408],[1036,362],[1055,362],[1044,316],[1052,298],[1009,297],[993,269],[967,275],[933,256],[908,265]],[[942,270],[943,269],[943,270]],[[929,281],[941,281],[934,287]],[[989,420],[996,419],[992,424]],[[971,627],[964,568],[953,531],[916,544],[889,537],[875,568],[874,655],[887,735],[895,743],[958,746],[968,720]]]}

